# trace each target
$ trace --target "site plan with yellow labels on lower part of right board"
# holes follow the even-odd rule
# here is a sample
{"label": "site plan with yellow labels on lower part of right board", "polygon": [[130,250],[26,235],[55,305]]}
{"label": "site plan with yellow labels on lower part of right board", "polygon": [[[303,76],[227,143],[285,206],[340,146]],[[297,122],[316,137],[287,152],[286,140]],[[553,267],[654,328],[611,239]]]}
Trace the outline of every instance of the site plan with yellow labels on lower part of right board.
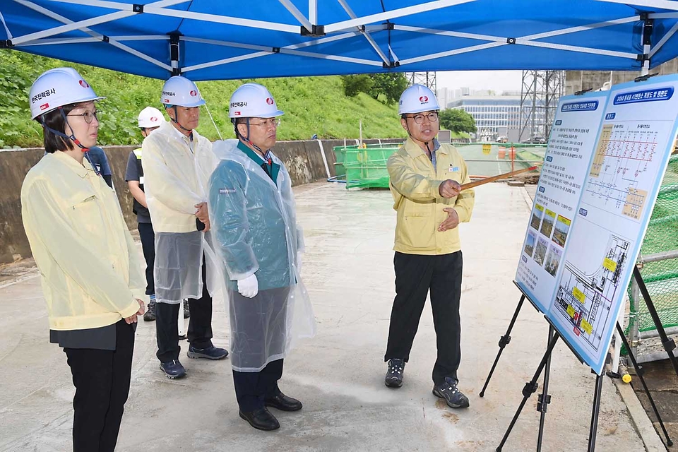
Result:
{"label": "site plan with yellow labels on lower part of right board", "polygon": [[[604,256],[600,256],[600,267],[594,273],[585,275],[570,261],[565,268],[552,308],[552,316],[569,322],[574,333],[591,350],[598,351],[602,333],[606,326],[616,319],[610,318],[615,297],[624,287],[619,287],[619,278],[626,265],[629,252],[626,239],[611,235]],[[602,346],[607,347],[607,344]]]}

